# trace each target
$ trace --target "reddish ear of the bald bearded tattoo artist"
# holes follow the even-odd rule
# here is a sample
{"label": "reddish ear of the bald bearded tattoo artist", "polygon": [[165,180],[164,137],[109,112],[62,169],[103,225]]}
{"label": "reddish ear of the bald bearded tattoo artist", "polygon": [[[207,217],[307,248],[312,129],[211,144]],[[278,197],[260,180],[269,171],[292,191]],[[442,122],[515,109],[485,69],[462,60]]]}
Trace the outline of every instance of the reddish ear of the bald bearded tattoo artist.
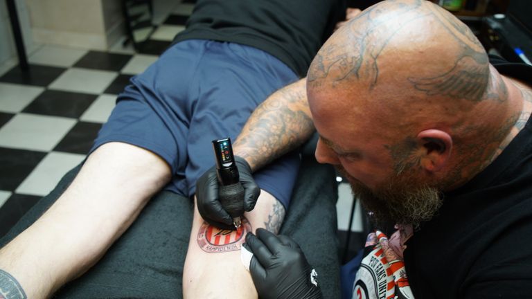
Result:
{"label": "reddish ear of the bald bearded tattoo artist", "polygon": [[441,170],[451,155],[452,138],[447,132],[427,129],[416,137],[425,152],[421,157],[421,167],[428,172]]}

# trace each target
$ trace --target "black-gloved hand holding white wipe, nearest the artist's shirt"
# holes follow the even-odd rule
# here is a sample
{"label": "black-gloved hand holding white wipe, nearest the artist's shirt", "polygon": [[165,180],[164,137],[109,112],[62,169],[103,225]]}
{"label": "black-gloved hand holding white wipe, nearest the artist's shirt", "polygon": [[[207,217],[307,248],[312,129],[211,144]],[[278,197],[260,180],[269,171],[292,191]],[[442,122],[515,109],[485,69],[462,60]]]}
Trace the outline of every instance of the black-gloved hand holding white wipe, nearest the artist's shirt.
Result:
{"label": "black-gloved hand holding white wipe, nearest the artist's shirt", "polygon": [[249,272],[260,299],[323,298],[317,273],[294,240],[263,228],[256,233],[246,235],[245,247],[253,253]]}

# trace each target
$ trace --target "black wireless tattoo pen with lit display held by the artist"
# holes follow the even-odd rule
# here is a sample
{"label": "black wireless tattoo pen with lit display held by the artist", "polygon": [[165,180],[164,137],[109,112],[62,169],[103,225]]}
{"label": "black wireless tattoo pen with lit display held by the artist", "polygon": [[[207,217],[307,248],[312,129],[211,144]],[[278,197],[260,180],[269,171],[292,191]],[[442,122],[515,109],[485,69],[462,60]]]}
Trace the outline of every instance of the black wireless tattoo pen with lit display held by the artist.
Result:
{"label": "black wireless tattoo pen with lit display held by the artist", "polygon": [[244,188],[240,184],[240,175],[233,156],[231,139],[224,138],[213,141],[216,156],[216,170],[220,182],[220,203],[233,218],[233,225],[240,228],[240,216],[244,214]]}

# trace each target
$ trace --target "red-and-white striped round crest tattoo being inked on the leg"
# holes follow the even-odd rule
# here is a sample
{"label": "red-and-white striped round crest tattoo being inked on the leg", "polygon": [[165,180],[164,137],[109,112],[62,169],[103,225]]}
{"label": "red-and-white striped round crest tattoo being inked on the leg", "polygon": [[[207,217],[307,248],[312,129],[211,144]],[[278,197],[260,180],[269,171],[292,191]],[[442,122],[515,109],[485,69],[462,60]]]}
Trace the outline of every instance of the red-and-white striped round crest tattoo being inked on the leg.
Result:
{"label": "red-and-white striped round crest tattoo being inked on the leg", "polygon": [[222,230],[203,222],[197,233],[199,248],[208,253],[238,251],[244,242],[244,237],[251,231],[251,225],[245,217],[238,230]]}

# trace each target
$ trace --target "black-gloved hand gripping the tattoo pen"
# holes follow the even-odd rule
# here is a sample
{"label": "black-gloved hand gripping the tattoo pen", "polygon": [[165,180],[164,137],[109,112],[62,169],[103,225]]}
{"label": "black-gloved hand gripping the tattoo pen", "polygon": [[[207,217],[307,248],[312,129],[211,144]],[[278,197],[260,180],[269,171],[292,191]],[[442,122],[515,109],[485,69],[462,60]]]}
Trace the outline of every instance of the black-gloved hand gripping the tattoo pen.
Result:
{"label": "black-gloved hand gripping the tattoo pen", "polygon": [[[235,156],[236,167],[240,175],[240,183],[244,188],[244,210],[249,212],[255,208],[260,188],[251,176],[251,167],[239,156]],[[222,207],[218,197],[218,177],[216,167],[207,170],[196,183],[197,210],[203,219],[213,226],[234,230],[233,219]]]}

